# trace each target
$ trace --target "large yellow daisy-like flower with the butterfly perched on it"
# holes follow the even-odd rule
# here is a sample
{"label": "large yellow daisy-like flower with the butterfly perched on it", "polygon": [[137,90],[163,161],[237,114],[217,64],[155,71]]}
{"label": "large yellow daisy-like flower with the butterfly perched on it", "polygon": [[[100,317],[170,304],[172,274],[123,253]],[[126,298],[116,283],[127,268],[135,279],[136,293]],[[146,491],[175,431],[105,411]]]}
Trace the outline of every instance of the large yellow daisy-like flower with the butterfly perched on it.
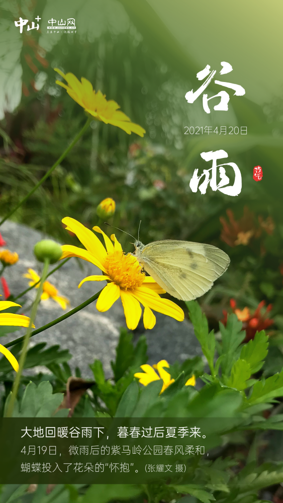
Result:
{"label": "large yellow daisy-like flower with the butterfly perched on it", "polygon": [[179,306],[171,300],[159,297],[158,294],[165,293],[165,291],[157,285],[151,276],[145,276],[136,257],[123,253],[122,246],[117,241],[115,234],[111,236],[113,244],[99,227],[93,227],[93,230],[103,234],[105,249],[99,238],[74,218],[65,217],[62,222],[67,226],[66,230],[76,234],[86,249],[64,244],[61,259],[79,257],[95,264],[104,273],[104,275],[84,278],[78,288],[85,281],[108,281],[97,300],[99,311],[107,311],[121,297],[126,323],[128,328],[132,330],[137,327],[141,317],[140,304],[144,306],[143,323],[145,328],[153,328],[156,322],[151,309],[167,314],[178,321],[184,319],[184,313]]}

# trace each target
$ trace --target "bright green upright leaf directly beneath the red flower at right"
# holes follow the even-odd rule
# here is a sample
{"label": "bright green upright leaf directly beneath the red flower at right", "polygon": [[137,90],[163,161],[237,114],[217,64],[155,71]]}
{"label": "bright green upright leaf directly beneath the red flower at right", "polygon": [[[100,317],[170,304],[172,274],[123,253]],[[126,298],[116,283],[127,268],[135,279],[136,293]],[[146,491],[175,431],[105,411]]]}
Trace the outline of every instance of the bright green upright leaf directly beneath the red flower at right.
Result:
{"label": "bright green upright leaf directly beneath the red flower at right", "polygon": [[261,330],[256,332],[253,340],[242,346],[240,358],[249,363],[251,374],[254,374],[261,369],[267,353],[268,336]]}

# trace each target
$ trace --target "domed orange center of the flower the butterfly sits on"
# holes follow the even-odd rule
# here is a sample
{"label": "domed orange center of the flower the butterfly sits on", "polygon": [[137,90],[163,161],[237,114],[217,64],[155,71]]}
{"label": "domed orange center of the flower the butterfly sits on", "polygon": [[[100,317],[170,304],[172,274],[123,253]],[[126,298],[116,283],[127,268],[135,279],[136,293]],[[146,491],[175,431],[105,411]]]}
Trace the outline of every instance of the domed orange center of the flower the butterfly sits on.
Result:
{"label": "domed orange center of the flower the butterfly sits on", "polygon": [[137,259],[120,250],[108,254],[104,267],[111,280],[125,290],[141,286],[145,278]]}

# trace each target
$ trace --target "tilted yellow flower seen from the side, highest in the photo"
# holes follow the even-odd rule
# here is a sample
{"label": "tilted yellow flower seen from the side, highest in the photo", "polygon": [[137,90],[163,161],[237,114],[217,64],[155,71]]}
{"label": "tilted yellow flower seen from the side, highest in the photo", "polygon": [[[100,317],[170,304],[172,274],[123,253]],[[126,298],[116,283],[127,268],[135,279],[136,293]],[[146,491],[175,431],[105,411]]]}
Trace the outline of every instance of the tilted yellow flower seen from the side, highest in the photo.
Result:
{"label": "tilted yellow flower seen from the side, highest in the photo", "polygon": [[54,68],[54,70],[68,82],[68,86],[60,80],[56,80],[56,84],[66,89],[68,95],[78,103],[85,112],[92,115],[95,119],[105,122],[105,124],[112,124],[113,126],[120,127],[128,134],[133,132],[143,137],[145,130],[138,124],[131,122],[126,114],[118,110],[120,107],[115,101],[107,101],[105,98],[106,95],[103,95],[101,91],[96,93],[95,90],[92,89],[89,80],[81,77],[80,82],[73,73],[66,73],[65,75],[58,68]]}

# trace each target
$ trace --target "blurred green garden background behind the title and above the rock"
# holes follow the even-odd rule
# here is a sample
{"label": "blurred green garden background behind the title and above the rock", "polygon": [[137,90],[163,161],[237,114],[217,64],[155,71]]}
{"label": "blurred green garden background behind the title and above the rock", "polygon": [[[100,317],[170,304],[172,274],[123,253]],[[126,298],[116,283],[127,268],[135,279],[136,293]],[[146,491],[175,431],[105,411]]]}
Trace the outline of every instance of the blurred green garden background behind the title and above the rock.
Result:
{"label": "blurred green garden background behind the title and above the rock", "polygon": [[[282,3],[268,3],[267,10],[263,0],[237,5],[225,0],[2,2],[0,213],[5,215],[28,193],[85,122],[82,108],[55,84],[53,68],[84,76],[107,99],[117,101],[146,135],[141,139],[93,121],[13,218],[77,244],[61,219],[71,216],[91,228],[98,221],[99,202],[112,197],[117,211],[111,223],[136,235],[142,220],[144,243],[164,238],[201,241],[229,254],[228,271],[201,299],[212,324],[231,297],[241,309],[254,309],[265,300],[272,303],[273,327],[281,337],[280,12]],[[14,24],[20,16],[30,22],[39,16],[40,30],[27,32],[24,27],[21,35]],[[71,17],[75,34],[47,33],[49,19]],[[201,97],[189,105],[184,95],[199,88],[198,71],[210,64],[219,72],[221,61],[233,66],[222,80],[240,84],[246,94],[234,97],[231,91],[229,111],[208,115]],[[209,96],[219,90],[211,84]],[[185,135],[190,126],[227,126],[227,133],[229,126],[242,126],[247,135]],[[192,193],[194,170],[207,167],[200,153],[220,148],[241,170],[241,194],[230,197],[210,188],[206,195]],[[256,165],[263,169],[260,183],[252,178]],[[244,233],[242,240],[239,232]],[[131,239],[117,235],[124,249],[133,251]]]}

